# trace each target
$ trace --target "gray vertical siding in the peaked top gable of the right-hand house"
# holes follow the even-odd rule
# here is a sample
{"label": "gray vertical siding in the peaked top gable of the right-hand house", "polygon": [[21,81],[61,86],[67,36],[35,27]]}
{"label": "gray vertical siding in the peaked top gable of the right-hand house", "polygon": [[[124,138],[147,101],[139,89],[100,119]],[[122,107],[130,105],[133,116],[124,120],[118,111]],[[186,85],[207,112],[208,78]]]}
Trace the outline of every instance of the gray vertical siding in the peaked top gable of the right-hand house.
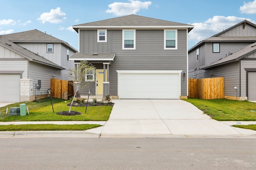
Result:
{"label": "gray vertical siding in the peaked top gable of the right-hand house", "polygon": [[248,24],[246,24],[243,29],[243,24],[240,24],[220,35],[218,37],[234,37],[234,36],[256,36],[256,29]]}

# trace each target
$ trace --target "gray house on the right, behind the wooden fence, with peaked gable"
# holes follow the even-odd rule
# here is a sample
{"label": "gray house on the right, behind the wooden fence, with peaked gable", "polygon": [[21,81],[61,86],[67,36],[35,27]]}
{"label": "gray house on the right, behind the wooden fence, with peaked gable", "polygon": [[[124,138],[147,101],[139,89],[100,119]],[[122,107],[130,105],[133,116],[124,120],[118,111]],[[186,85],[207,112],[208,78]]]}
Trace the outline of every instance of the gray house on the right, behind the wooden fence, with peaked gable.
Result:
{"label": "gray house on the right, behind the wooden fence, with peaked gable", "polygon": [[[188,50],[188,78],[224,77],[224,96],[256,100],[256,25],[244,20]],[[236,88],[235,88],[236,87]]]}

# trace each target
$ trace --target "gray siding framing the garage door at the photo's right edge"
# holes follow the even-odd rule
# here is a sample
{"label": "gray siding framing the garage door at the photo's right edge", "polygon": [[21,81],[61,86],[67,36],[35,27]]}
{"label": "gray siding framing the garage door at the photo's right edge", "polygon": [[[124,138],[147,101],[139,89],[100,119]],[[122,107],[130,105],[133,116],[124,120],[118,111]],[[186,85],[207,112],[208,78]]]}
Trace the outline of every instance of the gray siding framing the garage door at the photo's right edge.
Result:
{"label": "gray siding framing the garage door at the photo's right edge", "polygon": [[[256,54],[254,53],[254,56]],[[255,59],[252,60],[241,60],[241,96],[246,96],[246,70],[245,68],[256,68]]]}

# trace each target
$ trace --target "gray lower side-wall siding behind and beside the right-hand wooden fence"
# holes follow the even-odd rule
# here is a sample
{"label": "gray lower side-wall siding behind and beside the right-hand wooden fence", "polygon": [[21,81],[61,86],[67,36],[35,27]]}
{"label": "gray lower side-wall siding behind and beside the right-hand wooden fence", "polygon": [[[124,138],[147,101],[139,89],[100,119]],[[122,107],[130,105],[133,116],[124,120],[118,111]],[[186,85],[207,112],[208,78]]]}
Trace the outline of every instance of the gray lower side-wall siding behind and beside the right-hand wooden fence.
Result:
{"label": "gray lower side-wall siding behind and beside the right-hand wooden fence", "polygon": [[[224,77],[224,95],[236,96],[236,90],[234,90],[234,87],[238,88],[237,93],[239,95],[239,90],[240,90],[239,61],[225,64],[222,66],[216,66],[214,68],[210,68],[207,70],[192,71],[189,73],[189,78],[192,78],[193,74],[196,74],[196,78]],[[210,74],[212,74],[213,76],[209,76]]]}

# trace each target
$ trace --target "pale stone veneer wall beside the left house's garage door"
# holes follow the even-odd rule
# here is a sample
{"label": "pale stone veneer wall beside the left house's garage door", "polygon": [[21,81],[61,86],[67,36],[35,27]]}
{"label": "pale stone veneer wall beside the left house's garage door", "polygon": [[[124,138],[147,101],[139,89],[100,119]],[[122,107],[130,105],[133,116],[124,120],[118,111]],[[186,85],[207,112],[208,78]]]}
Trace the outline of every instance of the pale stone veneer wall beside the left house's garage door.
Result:
{"label": "pale stone veneer wall beside the left house's garage door", "polygon": [[20,102],[33,100],[33,79],[20,79]]}

